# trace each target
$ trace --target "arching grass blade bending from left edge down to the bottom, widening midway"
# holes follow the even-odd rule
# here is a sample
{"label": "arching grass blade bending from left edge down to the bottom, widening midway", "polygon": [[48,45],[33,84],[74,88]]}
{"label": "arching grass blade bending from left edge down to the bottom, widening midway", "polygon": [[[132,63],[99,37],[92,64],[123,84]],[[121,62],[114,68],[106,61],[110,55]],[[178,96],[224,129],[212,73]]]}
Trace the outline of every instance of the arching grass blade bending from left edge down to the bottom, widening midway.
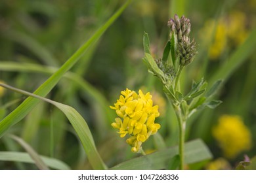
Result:
{"label": "arching grass blade bending from left edge down to the bottom, widening midway", "polygon": [[91,134],[91,131],[87,125],[87,122],[85,122],[83,117],[75,110],[75,108],[70,107],[68,105],[64,105],[62,103],[58,103],[56,101],[52,101],[50,99],[46,99],[44,97],[35,95],[30,92],[26,92],[24,90],[20,90],[18,88],[14,88],[12,86],[8,86],[7,84],[0,83],[0,86],[3,86],[4,88],[7,88],[14,92],[22,93],[30,97],[35,97],[47,103],[51,103],[55,107],[59,108],[66,115],[66,117],[74,127],[75,132],[77,133],[81,143],[83,144],[83,148],[87,154],[87,157],[93,169],[106,169],[106,165],[104,164],[104,162],[100,158],[100,155],[98,154],[98,151],[96,150],[95,142],[93,140],[93,135]]}

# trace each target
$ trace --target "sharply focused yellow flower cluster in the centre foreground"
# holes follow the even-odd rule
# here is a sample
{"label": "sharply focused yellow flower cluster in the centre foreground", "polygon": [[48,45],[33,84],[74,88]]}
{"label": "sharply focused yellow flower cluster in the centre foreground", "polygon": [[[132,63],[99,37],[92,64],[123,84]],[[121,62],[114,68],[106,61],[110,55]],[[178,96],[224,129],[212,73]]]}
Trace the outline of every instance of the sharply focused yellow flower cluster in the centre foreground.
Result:
{"label": "sharply focused yellow flower cluster in the centre foreground", "polygon": [[142,142],[145,142],[150,135],[154,135],[160,124],[155,124],[155,118],[160,116],[158,105],[153,106],[152,95],[126,89],[121,92],[119,99],[110,108],[116,110],[119,118],[112,123],[112,127],[119,129],[118,133],[123,138],[129,134],[126,142],[131,145],[132,152],[140,152]]}

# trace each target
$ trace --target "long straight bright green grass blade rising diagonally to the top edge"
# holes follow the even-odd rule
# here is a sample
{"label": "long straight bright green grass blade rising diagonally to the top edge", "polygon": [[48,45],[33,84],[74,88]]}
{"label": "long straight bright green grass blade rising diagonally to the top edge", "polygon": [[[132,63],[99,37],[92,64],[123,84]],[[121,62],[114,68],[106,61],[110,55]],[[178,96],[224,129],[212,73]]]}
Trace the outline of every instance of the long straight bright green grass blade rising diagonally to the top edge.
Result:
{"label": "long straight bright green grass blade rising diagonally to the top edge", "polygon": [[[91,46],[94,42],[96,42],[99,37],[112,25],[112,23],[119,17],[119,15],[125,10],[125,8],[131,3],[131,0],[126,1],[126,3],[117,10],[117,12],[106,22],[106,24],[102,25],[96,31],[96,33],[83,44],[72,56],[68,59],[56,73],[54,73],[48,80],[46,80],[37,90],[35,90],[35,94],[45,96],[49,93],[53,87],[58,83],[58,81],[62,78],[62,76],[69,71],[73,65],[77,62],[81,56],[85,53],[87,48]],[[35,105],[39,103],[39,99],[35,99],[33,97],[28,97],[22,104],[20,104],[15,110],[11,112],[8,116],[6,116],[0,122],[0,137],[11,127],[16,124],[20,120],[22,120],[29,112],[32,110]]]}

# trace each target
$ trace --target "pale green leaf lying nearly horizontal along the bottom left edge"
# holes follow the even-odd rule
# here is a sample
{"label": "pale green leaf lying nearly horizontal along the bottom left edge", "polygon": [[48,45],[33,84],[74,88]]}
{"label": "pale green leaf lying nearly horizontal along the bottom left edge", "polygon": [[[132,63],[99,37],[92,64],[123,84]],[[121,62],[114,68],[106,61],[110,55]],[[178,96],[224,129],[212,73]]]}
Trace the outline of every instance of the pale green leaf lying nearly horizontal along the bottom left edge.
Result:
{"label": "pale green leaf lying nearly horizontal along the bottom left edge", "polygon": [[[47,156],[39,156],[43,162],[53,169],[58,170],[70,170],[70,167],[60,161],[59,159],[49,158]],[[0,161],[16,161],[16,162],[23,162],[23,163],[35,163],[31,156],[26,152],[12,152],[12,151],[5,151],[0,152]]]}

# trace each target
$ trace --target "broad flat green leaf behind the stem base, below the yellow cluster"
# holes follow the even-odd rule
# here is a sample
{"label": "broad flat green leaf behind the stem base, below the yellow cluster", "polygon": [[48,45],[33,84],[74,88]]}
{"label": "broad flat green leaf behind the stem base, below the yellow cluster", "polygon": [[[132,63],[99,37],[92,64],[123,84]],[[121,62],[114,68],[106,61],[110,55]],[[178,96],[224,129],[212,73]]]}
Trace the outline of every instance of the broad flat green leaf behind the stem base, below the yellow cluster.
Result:
{"label": "broad flat green leaf behind the stem base, below the yellow cluster", "polygon": [[[146,156],[129,159],[110,169],[119,170],[140,170],[140,169],[167,169],[167,164],[179,152],[178,146],[160,150]],[[205,159],[211,159],[212,155],[205,143],[196,139],[186,142],[184,145],[184,161],[185,163],[196,163]]]}

